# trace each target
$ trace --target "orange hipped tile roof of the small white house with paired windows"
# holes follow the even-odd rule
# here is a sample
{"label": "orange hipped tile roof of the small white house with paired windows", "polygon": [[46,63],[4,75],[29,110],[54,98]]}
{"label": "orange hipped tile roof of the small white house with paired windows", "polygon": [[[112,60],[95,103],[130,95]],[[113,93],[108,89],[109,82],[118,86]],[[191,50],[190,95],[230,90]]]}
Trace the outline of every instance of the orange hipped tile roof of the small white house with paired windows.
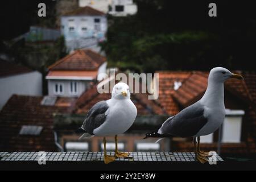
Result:
{"label": "orange hipped tile roof of the small white house with paired windows", "polygon": [[87,50],[77,50],[49,66],[50,71],[96,71],[106,57]]}

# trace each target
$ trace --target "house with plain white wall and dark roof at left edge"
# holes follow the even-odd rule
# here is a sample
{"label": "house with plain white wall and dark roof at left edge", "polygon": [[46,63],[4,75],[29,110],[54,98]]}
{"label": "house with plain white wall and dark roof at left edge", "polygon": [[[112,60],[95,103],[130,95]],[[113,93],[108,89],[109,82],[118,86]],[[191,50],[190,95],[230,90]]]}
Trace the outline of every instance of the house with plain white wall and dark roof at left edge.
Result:
{"label": "house with plain white wall and dark roof at left edge", "polygon": [[38,71],[0,60],[0,110],[13,94],[41,96],[42,80]]}

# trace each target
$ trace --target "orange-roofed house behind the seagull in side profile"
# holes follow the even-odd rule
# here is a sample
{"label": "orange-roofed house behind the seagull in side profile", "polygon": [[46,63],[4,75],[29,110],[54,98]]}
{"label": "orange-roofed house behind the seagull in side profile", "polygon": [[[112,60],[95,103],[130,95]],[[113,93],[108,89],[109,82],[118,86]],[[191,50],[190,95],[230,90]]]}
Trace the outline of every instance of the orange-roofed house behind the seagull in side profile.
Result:
{"label": "orange-roofed house behind the seagull in side profile", "polygon": [[[159,73],[159,103],[170,115],[198,101],[207,89],[208,72]],[[245,73],[245,80],[228,80],[225,82],[226,117],[221,130],[201,137],[204,150],[217,151],[218,140],[221,152],[250,153],[255,152],[255,74]],[[254,80],[254,81],[253,81]],[[183,142],[180,142],[180,141]],[[191,151],[190,139],[174,138],[173,150]]]}

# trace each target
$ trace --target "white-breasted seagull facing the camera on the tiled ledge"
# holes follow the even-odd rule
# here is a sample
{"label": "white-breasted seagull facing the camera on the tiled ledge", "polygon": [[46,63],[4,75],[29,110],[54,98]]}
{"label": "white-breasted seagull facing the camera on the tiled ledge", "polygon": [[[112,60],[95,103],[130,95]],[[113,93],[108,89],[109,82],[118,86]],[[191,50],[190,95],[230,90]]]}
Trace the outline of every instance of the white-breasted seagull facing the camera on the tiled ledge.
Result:
{"label": "white-breasted seagull facing the camera on the tiled ledge", "polygon": [[[84,134],[80,137],[104,137],[104,162],[108,164],[115,158],[126,158],[129,153],[118,151],[117,135],[125,133],[137,116],[137,108],[130,99],[129,86],[123,82],[114,85],[112,98],[107,101],[97,102],[88,112],[81,130]],[[106,137],[115,136],[115,156],[106,155]]]}

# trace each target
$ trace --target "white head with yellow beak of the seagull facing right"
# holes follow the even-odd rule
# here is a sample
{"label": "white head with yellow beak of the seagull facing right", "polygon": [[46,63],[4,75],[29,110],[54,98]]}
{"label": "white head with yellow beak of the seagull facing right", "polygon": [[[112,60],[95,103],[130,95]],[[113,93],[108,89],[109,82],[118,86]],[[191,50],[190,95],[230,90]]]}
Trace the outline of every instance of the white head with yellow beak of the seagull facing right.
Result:
{"label": "white head with yellow beak of the seagull facing right", "polygon": [[209,74],[209,81],[213,82],[225,82],[229,78],[243,80],[243,77],[241,75],[234,74],[228,69],[222,67],[213,68]]}

